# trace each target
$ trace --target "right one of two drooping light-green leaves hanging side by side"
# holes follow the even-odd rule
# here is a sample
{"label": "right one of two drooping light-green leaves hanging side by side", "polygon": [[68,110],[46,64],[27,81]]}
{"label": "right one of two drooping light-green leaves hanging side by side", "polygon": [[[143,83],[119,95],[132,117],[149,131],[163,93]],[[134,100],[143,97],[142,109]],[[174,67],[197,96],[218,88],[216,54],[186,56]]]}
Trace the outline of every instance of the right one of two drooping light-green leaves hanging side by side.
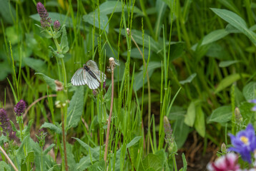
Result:
{"label": "right one of two drooping light-green leaves hanging side by side", "polygon": [[202,110],[201,105],[197,105],[196,113],[195,130],[197,130],[197,133],[199,133],[202,138],[205,138],[205,113]]}

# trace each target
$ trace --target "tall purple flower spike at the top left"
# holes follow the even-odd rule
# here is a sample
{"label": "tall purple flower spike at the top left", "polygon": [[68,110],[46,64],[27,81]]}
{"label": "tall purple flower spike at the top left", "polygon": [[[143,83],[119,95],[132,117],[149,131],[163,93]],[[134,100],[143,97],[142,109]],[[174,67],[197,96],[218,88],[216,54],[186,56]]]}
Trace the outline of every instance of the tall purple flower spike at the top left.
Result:
{"label": "tall purple flower spike at the top left", "polygon": [[47,10],[44,8],[44,5],[41,4],[41,2],[36,4],[37,12],[41,18],[40,23],[42,28],[48,28],[51,26],[51,18],[49,17],[49,14]]}

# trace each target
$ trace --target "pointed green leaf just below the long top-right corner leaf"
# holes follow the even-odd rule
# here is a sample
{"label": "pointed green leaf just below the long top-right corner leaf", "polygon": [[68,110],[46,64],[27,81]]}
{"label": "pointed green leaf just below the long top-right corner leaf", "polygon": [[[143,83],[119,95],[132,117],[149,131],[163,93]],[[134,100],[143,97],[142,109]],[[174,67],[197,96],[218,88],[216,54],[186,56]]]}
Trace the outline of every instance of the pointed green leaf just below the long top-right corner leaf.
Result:
{"label": "pointed green leaf just below the long top-right corner leaf", "polygon": [[[200,44],[200,46],[204,46],[207,45],[209,43],[215,42],[220,40],[221,38],[224,38],[225,36],[227,36],[229,34],[228,31],[226,31],[225,29],[219,29],[219,30],[215,30],[212,31],[211,33],[208,33],[203,39],[202,39],[202,43]],[[195,45],[192,46],[192,50],[195,51],[197,49],[197,43]]]}

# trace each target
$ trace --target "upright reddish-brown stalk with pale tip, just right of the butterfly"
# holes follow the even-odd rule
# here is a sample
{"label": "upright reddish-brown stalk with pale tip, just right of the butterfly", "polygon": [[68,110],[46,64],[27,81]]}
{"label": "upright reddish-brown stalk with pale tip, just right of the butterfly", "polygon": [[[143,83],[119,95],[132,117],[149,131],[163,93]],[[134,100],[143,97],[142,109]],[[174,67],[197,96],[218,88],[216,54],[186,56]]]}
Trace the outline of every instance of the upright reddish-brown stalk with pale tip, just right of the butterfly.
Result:
{"label": "upright reddish-brown stalk with pale tip, just right of the butterfly", "polygon": [[109,58],[109,68],[111,69],[112,91],[111,91],[111,105],[110,105],[110,111],[109,111],[109,120],[107,123],[106,145],[105,145],[105,152],[104,152],[104,161],[106,163],[107,163],[107,153],[108,153],[108,146],[109,146],[109,131],[110,131],[113,102],[114,102],[114,66],[115,66],[114,58]]}

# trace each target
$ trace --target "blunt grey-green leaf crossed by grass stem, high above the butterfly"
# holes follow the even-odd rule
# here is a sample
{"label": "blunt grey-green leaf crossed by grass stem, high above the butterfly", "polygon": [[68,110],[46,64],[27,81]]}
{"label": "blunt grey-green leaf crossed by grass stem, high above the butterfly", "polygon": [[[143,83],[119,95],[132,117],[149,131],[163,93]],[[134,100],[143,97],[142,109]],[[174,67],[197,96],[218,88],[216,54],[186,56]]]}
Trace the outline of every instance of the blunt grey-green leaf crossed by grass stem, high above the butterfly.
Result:
{"label": "blunt grey-green leaf crossed by grass stem, high above the butterfly", "polygon": [[87,15],[84,15],[83,20],[84,22],[87,22],[92,26],[94,26],[95,24],[97,28],[99,28],[99,25],[100,25],[100,28],[102,30],[105,30],[107,33],[109,33],[109,24],[108,24],[109,18],[106,15],[100,14],[98,18],[97,13],[94,14],[93,12],[91,12]]}

